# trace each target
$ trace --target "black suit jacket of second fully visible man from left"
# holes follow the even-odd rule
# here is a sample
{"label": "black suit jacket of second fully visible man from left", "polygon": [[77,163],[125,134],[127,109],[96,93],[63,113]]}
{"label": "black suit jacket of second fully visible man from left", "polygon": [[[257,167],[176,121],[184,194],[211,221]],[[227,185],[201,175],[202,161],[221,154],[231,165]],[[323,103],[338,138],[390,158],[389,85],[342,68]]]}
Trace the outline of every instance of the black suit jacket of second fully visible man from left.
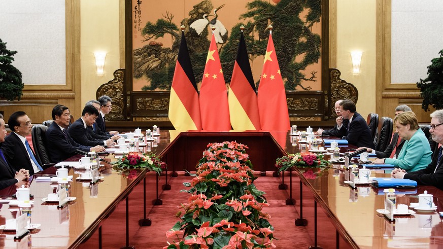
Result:
{"label": "black suit jacket of second fully visible man from left", "polygon": [[61,132],[60,127],[55,122],[52,122],[46,131],[46,141],[48,144],[48,153],[51,158],[51,162],[61,162],[67,158],[75,155],[76,150],[82,150],[85,152],[90,151],[90,146],[83,146],[77,144],[69,132],[66,132],[67,140],[65,139],[63,132]]}

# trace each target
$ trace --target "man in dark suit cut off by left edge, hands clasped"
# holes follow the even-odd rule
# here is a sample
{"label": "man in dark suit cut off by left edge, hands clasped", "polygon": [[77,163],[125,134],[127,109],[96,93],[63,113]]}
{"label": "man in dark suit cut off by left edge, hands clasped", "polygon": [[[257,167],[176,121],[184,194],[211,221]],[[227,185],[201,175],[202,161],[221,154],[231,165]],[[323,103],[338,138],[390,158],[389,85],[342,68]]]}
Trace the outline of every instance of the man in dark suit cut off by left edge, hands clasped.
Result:
{"label": "man in dark suit cut off by left edge, hands clasped", "polygon": [[[3,115],[0,114],[0,143],[5,141],[6,127]],[[8,163],[2,150],[0,150],[0,189],[7,188],[11,185],[26,185],[29,179],[29,172],[26,169],[15,171]]]}

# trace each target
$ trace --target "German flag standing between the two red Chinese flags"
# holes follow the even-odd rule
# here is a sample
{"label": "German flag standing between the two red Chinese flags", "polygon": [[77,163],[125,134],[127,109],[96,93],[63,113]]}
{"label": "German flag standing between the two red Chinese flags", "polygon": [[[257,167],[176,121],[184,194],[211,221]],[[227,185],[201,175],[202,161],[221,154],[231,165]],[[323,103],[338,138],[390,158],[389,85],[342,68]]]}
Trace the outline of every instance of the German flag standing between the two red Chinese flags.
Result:
{"label": "German flag standing between the two red Chinese flags", "polygon": [[257,94],[243,32],[229,88],[229,115],[234,130],[259,130]]}

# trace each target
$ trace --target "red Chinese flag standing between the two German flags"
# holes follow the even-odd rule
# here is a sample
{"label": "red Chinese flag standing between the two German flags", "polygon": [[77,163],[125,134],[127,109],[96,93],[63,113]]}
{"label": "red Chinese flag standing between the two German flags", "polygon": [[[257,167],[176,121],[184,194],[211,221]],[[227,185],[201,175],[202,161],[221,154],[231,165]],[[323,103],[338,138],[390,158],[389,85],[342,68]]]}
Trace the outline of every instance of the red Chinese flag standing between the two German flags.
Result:
{"label": "red Chinese flag standing between the two German flags", "polygon": [[200,113],[203,130],[228,131],[231,129],[226,84],[214,33],[201,81]]}

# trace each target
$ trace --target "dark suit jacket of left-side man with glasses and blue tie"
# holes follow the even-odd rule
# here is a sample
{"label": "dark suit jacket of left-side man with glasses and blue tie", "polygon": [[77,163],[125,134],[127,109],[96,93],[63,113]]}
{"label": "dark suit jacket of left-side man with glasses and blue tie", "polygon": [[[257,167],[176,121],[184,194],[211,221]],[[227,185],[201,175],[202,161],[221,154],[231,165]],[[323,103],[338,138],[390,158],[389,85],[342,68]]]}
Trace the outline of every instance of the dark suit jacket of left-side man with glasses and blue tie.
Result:
{"label": "dark suit jacket of left-side man with glasses and blue tie", "polygon": [[[28,151],[17,134],[11,132],[11,134],[6,136],[5,142],[2,145],[2,151],[3,154],[5,154],[9,164],[12,165],[16,171],[24,168],[29,170],[30,175],[34,174],[34,169],[28,156]],[[32,154],[34,157],[36,157],[36,154],[33,152]],[[40,165],[42,165],[42,163],[38,161],[37,157],[36,160]]]}

